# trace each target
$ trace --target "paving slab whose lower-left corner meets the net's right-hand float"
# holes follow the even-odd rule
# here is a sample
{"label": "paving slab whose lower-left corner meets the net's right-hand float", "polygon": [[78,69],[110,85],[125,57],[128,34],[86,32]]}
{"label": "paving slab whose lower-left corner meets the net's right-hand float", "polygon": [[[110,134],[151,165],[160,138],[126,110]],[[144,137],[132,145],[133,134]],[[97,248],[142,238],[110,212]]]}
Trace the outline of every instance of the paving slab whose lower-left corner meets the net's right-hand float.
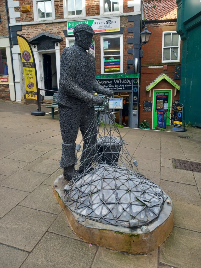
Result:
{"label": "paving slab whose lower-left corner meets the net's right-hand float", "polygon": [[160,160],[160,150],[138,146],[134,153],[134,156],[142,159]]}

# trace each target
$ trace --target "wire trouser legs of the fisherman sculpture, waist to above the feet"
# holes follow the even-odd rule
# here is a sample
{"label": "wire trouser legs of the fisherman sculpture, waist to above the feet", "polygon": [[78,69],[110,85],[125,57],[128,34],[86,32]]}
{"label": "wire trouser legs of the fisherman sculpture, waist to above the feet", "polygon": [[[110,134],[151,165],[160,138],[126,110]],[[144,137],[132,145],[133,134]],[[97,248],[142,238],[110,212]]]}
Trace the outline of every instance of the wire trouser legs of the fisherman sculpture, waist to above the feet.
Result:
{"label": "wire trouser legs of the fisherman sculpture, waist to above the feet", "polygon": [[[62,136],[62,156],[59,162],[62,168],[69,167],[76,162],[75,148],[76,138],[80,131],[83,136],[83,153],[81,161],[85,161],[85,166],[90,164],[89,155],[95,151],[97,138],[97,123],[94,107],[90,108],[69,108],[59,105],[59,123]],[[94,149],[92,150],[92,148]]]}

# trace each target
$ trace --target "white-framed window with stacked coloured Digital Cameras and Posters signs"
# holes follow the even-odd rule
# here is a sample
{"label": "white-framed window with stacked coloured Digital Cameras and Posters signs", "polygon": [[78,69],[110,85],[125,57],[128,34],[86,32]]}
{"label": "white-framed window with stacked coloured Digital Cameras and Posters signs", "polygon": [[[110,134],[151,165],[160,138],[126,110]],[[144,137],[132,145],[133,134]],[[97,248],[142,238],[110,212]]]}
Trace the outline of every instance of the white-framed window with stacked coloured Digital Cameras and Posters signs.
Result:
{"label": "white-framed window with stacked coloured Digital Cameras and Posters signs", "polygon": [[101,73],[122,73],[122,35],[101,37]]}

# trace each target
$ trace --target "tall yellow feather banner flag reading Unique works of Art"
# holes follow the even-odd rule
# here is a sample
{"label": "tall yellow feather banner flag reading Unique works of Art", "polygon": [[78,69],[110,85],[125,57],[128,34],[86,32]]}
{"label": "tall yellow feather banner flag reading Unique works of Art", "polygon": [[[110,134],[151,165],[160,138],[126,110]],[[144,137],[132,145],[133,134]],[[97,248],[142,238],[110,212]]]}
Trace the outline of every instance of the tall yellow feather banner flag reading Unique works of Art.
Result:
{"label": "tall yellow feather banner flag reading Unique works of Art", "polygon": [[17,35],[17,40],[20,46],[20,53],[22,57],[26,98],[37,100],[38,82],[33,51],[28,40],[24,36]]}

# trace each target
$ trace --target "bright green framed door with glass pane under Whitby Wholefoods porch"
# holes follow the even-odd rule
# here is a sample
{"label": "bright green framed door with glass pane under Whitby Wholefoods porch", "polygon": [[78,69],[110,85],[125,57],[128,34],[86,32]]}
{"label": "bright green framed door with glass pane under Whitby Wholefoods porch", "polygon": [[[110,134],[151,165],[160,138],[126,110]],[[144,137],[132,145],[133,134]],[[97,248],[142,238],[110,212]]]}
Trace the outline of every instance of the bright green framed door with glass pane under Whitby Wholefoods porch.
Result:
{"label": "bright green framed door with glass pane under Whitby Wholefoods porch", "polygon": [[154,90],[153,129],[157,126],[157,110],[167,110],[167,124],[170,125],[170,101],[171,90]]}

